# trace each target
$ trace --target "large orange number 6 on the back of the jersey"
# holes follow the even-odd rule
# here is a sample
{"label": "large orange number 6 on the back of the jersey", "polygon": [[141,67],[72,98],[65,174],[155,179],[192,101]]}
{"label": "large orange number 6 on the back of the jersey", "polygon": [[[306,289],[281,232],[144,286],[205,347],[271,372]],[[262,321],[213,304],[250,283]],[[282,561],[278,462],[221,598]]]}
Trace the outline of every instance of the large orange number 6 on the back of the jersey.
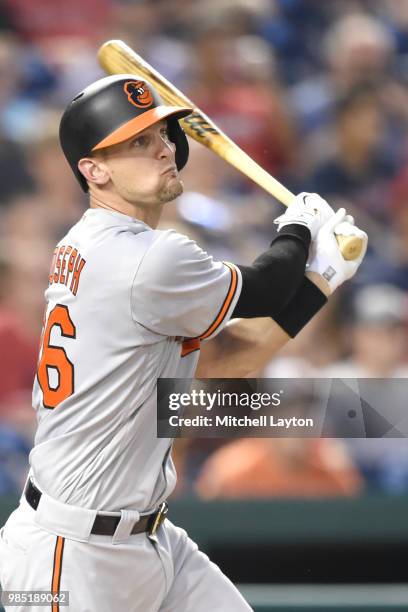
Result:
{"label": "large orange number 6 on the back of the jersey", "polygon": [[[48,316],[45,326],[41,359],[38,362],[37,378],[43,392],[43,404],[45,408],[55,408],[74,392],[74,366],[68,359],[65,349],[50,344],[51,332],[54,327],[60,328],[60,333],[65,338],[75,338],[76,329],[69,315],[67,306],[57,304]],[[58,383],[50,386],[49,370],[57,371]]]}

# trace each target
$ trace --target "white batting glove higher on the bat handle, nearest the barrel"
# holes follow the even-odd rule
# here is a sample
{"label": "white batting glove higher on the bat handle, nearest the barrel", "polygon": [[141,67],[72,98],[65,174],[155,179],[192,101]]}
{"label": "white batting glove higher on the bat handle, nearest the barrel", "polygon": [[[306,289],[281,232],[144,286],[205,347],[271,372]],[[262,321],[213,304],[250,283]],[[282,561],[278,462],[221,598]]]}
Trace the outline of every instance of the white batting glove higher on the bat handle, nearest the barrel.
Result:
{"label": "white batting glove higher on the bat handle, nearest the barrel", "polygon": [[285,227],[295,223],[309,228],[312,240],[317,236],[319,229],[334,215],[332,207],[317,193],[302,192],[288,206],[283,215],[274,221],[279,227],[278,232]]}

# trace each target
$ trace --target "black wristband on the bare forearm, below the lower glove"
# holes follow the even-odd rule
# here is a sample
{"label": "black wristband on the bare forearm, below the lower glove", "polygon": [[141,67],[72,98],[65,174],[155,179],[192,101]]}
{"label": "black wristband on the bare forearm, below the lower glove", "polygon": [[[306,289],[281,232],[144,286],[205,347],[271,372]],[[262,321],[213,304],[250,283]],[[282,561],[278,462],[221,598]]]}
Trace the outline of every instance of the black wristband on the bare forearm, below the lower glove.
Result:
{"label": "black wristband on the bare forearm, below the lower glove", "polygon": [[306,276],[303,283],[274,321],[294,338],[326,304],[327,297]]}

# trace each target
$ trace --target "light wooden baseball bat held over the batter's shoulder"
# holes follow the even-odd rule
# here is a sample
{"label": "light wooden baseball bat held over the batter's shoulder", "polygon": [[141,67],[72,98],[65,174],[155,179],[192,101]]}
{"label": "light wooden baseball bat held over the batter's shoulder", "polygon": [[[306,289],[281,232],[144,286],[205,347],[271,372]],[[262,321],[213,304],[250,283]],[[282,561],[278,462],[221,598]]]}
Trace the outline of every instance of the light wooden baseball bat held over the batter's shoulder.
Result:
{"label": "light wooden baseball bat held over the batter's shoulder", "polygon": [[[187,96],[122,40],[109,40],[104,43],[98,51],[98,59],[102,68],[109,74],[128,73],[144,77],[157,89],[166,104],[193,108],[191,115],[180,120],[184,131],[252,179],[279,202],[289,206],[295,197],[289,189],[249,157]],[[362,249],[360,238],[338,235],[337,241],[344,259],[352,260],[360,255]]]}

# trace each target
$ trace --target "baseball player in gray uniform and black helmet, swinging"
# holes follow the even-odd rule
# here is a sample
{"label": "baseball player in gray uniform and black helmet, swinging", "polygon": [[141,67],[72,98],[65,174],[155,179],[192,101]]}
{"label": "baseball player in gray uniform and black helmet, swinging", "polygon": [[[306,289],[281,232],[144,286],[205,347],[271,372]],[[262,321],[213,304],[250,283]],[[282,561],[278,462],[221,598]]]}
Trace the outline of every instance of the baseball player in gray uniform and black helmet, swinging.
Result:
{"label": "baseball player in gray uniform and black helmet, swinging", "polygon": [[[265,364],[364,255],[343,259],[335,230],[365,243],[366,234],[314,194],[296,198],[248,266],[157,230],[183,189],[188,144],[178,120],[191,110],[164,106],[135,75],[116,75],[79,93],[61,120],[90,208],[54,251],[30,471],[0,532],[3,589],[48,593],[52,612],[67,592],[75,612],[250,610],[165,520],[176,474],[172,440],[156,438],[156,381],[194,377],[197,366],[201,375],[243,376]],[[216,335],[214,363],[206,345]],[[28,608],[44,609],[6,605]]]}

